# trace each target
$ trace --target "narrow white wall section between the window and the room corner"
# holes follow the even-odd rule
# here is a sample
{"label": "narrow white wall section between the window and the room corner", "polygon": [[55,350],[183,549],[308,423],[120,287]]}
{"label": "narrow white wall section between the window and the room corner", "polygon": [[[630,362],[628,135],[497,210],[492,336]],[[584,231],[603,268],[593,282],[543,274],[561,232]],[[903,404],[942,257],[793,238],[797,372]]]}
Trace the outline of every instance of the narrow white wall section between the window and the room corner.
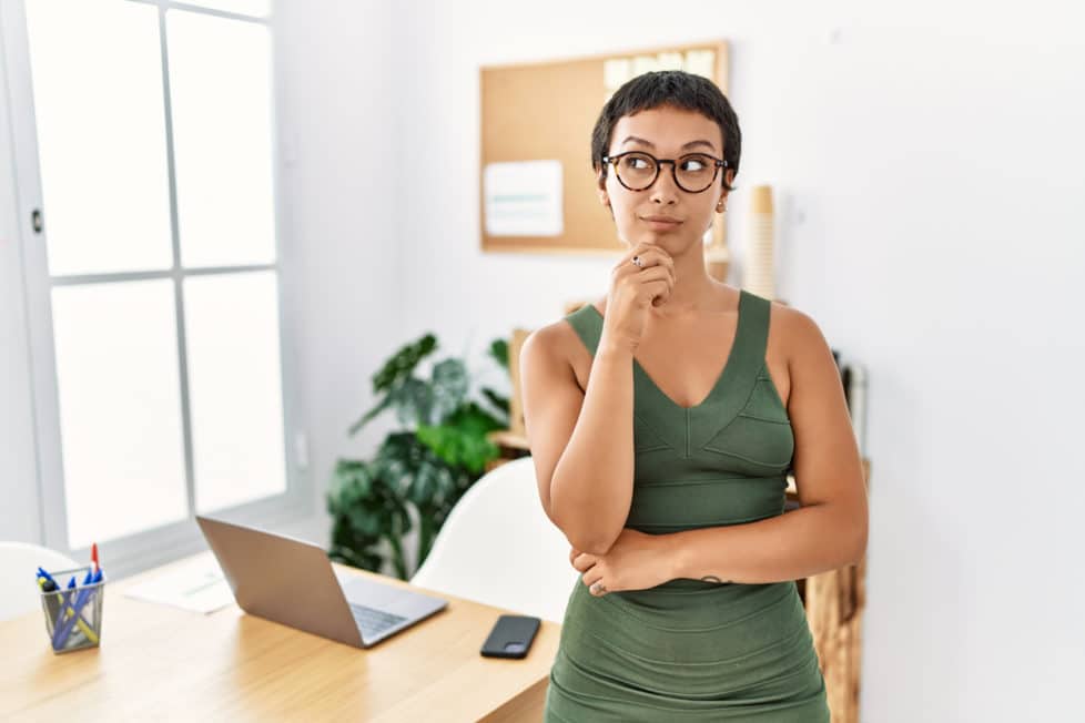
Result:
{"label": "narrow white wall section between the window and the room corner", "polygon": [[[347,428],[368,409],[371,377],[400,343],[399,233],[389,71],[388,2],[276,2],[278,115],[288,250],[284,273],[295,322],[311,469],[313,520],[300,536],[326,543],[324,495],[337,457],[365,457],[384,438],[381,420],[355,438]],[[386,422],[385,422],[386,424]]]}

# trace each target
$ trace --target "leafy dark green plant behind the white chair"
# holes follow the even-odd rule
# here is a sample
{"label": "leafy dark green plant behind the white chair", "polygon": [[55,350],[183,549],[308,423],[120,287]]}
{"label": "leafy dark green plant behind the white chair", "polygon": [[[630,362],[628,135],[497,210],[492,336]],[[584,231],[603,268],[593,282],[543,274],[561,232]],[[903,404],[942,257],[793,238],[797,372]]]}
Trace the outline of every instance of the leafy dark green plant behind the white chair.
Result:
{"label": "leafy dark green plant behind the white chair", "polygon": [[[387,410],[395,411],[400,429],[388,434],[372,459],[337,460],[327,495],[333,560],[379,572],[385,558],[378,547],[386,540],[388,562],[406,580],[403,538],[413,527],[409,508],[418,519],[420,566],[448,512],[498,456],[487,434],[508,427],[508,398],[483,388],[490,410],[470,399],[467,365],[460,358],[436,363],[428,378],[417,376],[418,364],[436,349],[436,337],[426,334],[399,348],[373,376],[377,404],[348,434]],[[504,339],[490,344],[489,357],[508,373]]]}

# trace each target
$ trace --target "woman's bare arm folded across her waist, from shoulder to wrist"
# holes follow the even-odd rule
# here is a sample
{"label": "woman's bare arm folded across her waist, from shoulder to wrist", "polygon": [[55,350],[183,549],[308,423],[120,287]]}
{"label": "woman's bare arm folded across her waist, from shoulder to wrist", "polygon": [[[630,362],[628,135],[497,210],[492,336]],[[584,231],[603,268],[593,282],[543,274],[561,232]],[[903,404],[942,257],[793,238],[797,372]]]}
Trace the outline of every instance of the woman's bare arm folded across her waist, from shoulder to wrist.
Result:
{"label": "woman's bare arm folded across her waist, from shoulder to wrist", "polygon": [[832,352],[809,316],[774,310],[788,347],[788,414],[802,507],[757,522],[662,536],[675,577],[798,580],[858,562],[866,549],[866,483]]}

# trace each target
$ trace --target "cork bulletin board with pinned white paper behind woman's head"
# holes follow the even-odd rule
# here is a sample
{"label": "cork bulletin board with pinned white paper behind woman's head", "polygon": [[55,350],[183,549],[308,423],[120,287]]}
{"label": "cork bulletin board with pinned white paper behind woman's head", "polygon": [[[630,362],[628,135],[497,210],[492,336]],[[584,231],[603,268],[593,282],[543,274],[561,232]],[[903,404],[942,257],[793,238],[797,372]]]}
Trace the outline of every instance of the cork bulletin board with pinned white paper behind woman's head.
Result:
{"label": "cork bulletin board with pinned white paper behind woman's head", "polygon": [[[728,92],[726,41],[481,68],[483,251],[620,251],[614,220],[596,194],[591,129],[622,83],[670,69],[709,78]],[[707,246],[726,247],[724,217],[714,216]]]}

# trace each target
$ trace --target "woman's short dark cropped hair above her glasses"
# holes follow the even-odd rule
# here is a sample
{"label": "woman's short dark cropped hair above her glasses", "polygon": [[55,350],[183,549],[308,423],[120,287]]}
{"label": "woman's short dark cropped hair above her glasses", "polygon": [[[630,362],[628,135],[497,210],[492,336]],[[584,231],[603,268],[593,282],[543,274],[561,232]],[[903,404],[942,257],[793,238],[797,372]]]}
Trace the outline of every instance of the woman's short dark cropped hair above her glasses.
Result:
{"label": "woman's short dark cropped hair above her glasses", "polygon": [[[719,86],[704,78],[683,70],[658,70],[637,75],[615,91],[599,113],[595,130],[591,131],[591,167],[606,179],[606,164],[602,156],[610,149],[610,136],[618,120],[640,111],[669,105],[688,111],[697,111],[716,121],[723,138],[723,160],[733,175],[739,173],[739,156],[742,154],[742,132],[739,119],[730,101]],[[723,187],[733,191],[727,183],[727,169]]]}

